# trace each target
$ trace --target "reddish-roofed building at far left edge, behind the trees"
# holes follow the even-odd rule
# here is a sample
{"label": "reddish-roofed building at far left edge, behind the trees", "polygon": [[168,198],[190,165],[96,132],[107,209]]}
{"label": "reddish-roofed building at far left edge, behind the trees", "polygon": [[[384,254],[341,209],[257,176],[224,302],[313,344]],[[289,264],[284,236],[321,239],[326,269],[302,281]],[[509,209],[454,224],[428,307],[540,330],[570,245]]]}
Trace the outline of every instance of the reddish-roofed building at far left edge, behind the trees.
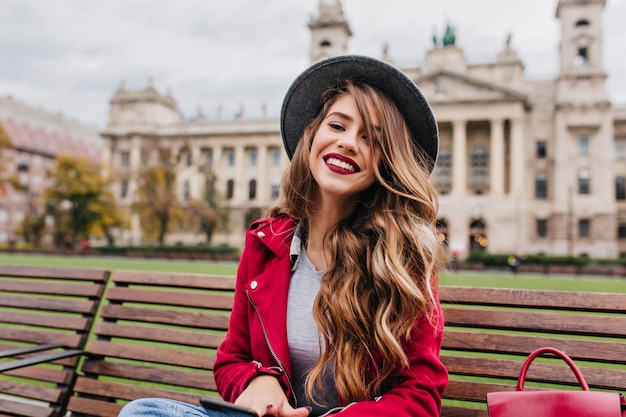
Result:
{"label": "reddish-roofed building at far left edge, behind the trees", "polygon": [[[0,97],[0,128],[8,138],[0,149],[0,175],[5,180],[0,183],[0,243],[4,244],[20,239],[26,216],[43,214],[44,192],[56,156],[78,155],[99,163],[102,138],[95,127],[12,97]],[[9,178],[17,180],[16,186],[6,181]]]}

